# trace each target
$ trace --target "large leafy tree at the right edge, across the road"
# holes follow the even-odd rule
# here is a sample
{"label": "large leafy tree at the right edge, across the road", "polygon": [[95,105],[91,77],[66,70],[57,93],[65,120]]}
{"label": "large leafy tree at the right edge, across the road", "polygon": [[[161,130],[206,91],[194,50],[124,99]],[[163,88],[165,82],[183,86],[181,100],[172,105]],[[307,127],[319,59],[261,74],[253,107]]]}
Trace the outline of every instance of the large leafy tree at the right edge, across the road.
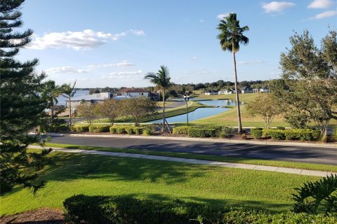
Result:
{"label": "large leafy tree at the right edge, across the road", "polygon": [[272,93],[283,102],[288,120],[312,120],[326,139],[329,121],[337,119],[336,31],[323,38],[320,49],[309,31],[295,33],[290,43],[280,61],[283,87],[272,88]]}

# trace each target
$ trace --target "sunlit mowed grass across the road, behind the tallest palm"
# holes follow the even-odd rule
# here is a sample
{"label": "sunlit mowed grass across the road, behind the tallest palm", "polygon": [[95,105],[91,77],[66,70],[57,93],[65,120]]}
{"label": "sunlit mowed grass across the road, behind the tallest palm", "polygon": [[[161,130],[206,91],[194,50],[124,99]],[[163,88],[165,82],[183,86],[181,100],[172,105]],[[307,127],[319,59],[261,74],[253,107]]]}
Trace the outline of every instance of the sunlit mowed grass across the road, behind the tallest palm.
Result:
{"label": "sunlit mowed grass across the road, behind the tallest palm", "polygon": [[[259,94],[256,93],[247,93],[247,94],[239,94],[239,101],[244,103],[252,102],[254,99],[258,98]],[[217,94],[217,95],[199,95],[201,99],[235,99],[235,94]],[[201,102],[202,103],[202,102]],[[242,105],[240,107],[242,125],[244,127],[264,127],[265,123],[263,118],[260,116],[251,116],[246,110],[246,106]],[[215,116],[211,116],[208,118],[203,118],[200,120],[193,120],[191,123],[200,124],[200,125],[227,125],[237,127],[237,109],[236,107],[225,111],[223,113],[219,113]],[[310,126],[315,126],[314,123],[310,123]],[[337,126],[337,120],[331,119],[330,126]],[[272,121],[272,127],[289,127],[289,123],[284,122],[282,117],[276,117]]]}

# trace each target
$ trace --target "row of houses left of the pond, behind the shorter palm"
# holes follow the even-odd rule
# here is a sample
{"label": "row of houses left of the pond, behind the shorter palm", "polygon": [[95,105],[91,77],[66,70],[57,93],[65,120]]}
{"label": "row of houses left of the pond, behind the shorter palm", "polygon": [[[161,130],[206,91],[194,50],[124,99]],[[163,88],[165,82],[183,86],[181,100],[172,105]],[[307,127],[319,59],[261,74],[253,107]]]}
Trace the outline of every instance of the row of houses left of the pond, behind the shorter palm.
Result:
{"label": "row of houses left of the pond, behind the shorter palm", "polygon": [[[139,97],[148,97],[154,101],[159,101],[160,95],[154,92],[144,90],[143,88],[124,88],[119,90],[116,94],[111,92],[100,92],[94,94],[86,94],[84,96],[72,97],[71,104],[73,107],[79,106],[84,102],[90,104],[96,104],[98,102],[103,102],[106,99],[128,99],[128,98],[139,98]],[[68,107],[69,100],[66,101],[66,107]]]}

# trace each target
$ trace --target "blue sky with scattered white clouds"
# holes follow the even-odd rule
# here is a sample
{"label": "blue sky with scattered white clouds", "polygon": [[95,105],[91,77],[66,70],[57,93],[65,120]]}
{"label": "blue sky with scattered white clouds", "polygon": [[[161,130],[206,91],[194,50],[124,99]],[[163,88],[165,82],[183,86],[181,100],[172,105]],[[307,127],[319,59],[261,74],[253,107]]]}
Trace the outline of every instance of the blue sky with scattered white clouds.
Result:
{"label": "blue sky with scattered white clouds", "polygon": [[219,18],[237,13],[249,44],[237,52],[238,80],[279,78],[289,37],[308,29],[320,45],[337,29],[333,0],[29,0],[22,29],[32,43],[18,59],[38,58],[37,72],[77,87],[147,87],[143,77],[169,68],[174,83],[233,81],[232,54],[216,36]]}

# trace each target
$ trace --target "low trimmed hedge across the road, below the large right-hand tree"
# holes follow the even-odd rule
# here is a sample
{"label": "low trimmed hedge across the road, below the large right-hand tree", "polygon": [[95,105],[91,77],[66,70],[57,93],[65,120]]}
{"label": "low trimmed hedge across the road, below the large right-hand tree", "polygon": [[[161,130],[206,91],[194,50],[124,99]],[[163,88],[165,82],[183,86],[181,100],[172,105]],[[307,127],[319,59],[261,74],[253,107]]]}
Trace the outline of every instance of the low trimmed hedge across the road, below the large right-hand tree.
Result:
{"label": "low trimmed hedge across the road, below the large right-hand tree", "polygon": [[265,137],[271,137],[277,140],[300,140],[300,141],[312,141],[319,137],[319,132],[309,129],[291,129],[291,130],[263,130]]}

